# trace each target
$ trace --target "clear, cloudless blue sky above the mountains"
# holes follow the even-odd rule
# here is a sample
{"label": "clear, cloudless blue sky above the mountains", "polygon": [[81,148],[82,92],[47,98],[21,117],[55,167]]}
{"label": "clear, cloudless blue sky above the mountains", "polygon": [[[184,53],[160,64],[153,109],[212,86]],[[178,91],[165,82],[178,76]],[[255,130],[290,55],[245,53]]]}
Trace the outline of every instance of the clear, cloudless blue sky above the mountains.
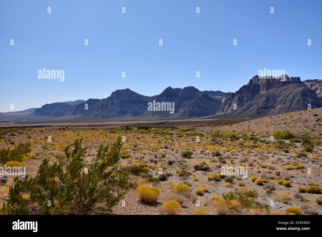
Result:
{"label": "clear, cloudless blue sky above the mountains", "polygon": [[[1,0],[0,112],[125,88],[235,92],[265,67],[322,79],[321,2]],[[44,67],[65,80],[38,79]]]}

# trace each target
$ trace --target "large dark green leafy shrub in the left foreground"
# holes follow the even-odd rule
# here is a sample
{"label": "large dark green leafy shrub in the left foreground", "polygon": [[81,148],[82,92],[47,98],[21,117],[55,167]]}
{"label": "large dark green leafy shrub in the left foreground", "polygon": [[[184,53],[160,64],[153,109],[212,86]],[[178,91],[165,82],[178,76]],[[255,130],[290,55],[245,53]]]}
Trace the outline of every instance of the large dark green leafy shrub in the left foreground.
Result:
{"label": "large dark green leafy shrub in the left foreground", "polygon": [[[99,146],[96,159],[86,164],[82,138],[64,148],[65,156],[50,164],[44,158],[35,177],[14,177],[10,199],[2,212],[12,214],[104,214],[133,187],[128,173],[109,169],[121,157],[121,138]],[[73,148],[70,151],[71,147]],[[63,163],[68,164],[66,166]],[[84,174],[88,167],[88,173]],[[26,197],[24,194],[28,193]],[[51,206],[47,206],[51,201]]]}

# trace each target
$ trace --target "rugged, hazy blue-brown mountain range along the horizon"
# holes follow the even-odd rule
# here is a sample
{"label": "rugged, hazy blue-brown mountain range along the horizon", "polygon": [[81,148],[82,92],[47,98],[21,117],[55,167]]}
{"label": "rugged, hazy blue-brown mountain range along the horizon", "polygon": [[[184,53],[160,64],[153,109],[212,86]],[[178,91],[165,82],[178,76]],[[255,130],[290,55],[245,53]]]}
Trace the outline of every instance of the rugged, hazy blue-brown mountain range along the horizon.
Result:
{"label": "rugged, hazy blue-brown mountain range along the horizon", "polygon": [[[148,103],[164,102],[161,111],[148,111]],[[174,103],[169,113],[166,103]],[[164,106],[164,107],[163,107]],[[161,94],[145,96],[130,89],[114,91],[104,99],[45,104],[40,108],[0,113],[0,120],[52,119],[245,119],[322,107],[322,80],[255,75],[235,93],[199,91],[193,86],[167,87]],[[164,108],[164,109],[163,109]],[[162,111],[165,110],[165,111]]]}

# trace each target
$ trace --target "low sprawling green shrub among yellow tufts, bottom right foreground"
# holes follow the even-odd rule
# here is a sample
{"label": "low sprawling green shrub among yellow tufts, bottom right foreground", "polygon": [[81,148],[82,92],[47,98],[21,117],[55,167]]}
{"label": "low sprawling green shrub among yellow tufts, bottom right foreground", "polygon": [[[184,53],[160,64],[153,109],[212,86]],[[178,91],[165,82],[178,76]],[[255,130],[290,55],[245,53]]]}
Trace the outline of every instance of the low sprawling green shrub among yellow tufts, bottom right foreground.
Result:
{"label": "low sprawling green shrub among yellow tufts, bottom right foreground", "polygon": [[242,207],[250,208],[255,204],[258,193],[255,191],[252,191],[252,193],[247,193],[247,191],[229,191],[227,194],[223,194],[223,199],[226,201],[237,200],[241,203]]}

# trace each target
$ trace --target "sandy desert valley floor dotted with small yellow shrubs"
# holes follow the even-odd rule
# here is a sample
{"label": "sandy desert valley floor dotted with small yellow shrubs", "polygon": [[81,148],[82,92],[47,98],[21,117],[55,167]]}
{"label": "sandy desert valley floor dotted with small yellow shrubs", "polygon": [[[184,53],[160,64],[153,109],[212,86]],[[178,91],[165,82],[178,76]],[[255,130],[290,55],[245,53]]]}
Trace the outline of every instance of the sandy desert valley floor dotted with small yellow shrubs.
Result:
{"label": "sandy desert valley floor dotted with small yellow shrubs", "polygon": [[[182,206],[180,214],[185,215],[283,214],[291,206],[298,207],[301,214],[322,214],[321,116],[322,108],[318,108],[242,122],[186,122],[181,126],[176,123],[175,128],[1,128],[0,145],[31,143],[32,153],[24,162],[27,174],[35,176],[43,158],[53,163],[74,139],[83,137],[83,145],[89,147],[86,161],[90,163],[100,143],[112,144],[124,136],[122,157],[111,168],[145,167],[145,172],[130,174],[131,180],[137,180],[136,186],[158,187],[161,192],[156,202],[147,204],[132,189],[112,208],[111,214],[160,214],[167,200],[178,201]],[[274,132],[285,130],[296,137],[291,141],[276,138],[270,141]],[[48,136],[51,142],[47,141]],[[313,151],[303,151],[302,136],[317,143]],[[190,158],[185,151],[192,152]],[[234,176],[234,180],[229,176],[220,177],[220,167],[226,165],[247,167],[248,177]],[[159,175],[160,169],[165,175]],[[7,184],[0,186],[0,205],[5,202],[11,183],[12,177],[9,177]],[[174,189],[177,184],[189,186],[192,192]],[[309,186],[317,187],[317,191]],[[246,190],[258,193],[258,196],[254,194],[253,204],[222,201],[229,191]]]}

